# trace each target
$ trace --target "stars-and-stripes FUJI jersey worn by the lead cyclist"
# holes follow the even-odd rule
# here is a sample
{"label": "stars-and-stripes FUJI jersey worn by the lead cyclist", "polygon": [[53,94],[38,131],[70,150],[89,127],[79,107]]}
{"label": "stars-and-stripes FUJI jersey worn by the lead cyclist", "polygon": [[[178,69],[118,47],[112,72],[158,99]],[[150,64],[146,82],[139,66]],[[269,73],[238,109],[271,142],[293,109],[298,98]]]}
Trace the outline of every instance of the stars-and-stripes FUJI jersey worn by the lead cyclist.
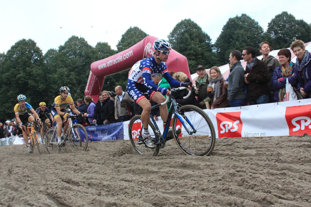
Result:
{"label": "stars-and-stripes FUJI jersey worn by the lead cyclist", "polygon": [[151,82],[151,79],[159,73],[163,75],[163,77],[167,80],[170,86],[180,86],[180,82],[173,79],[172,76],[169,74],[165,63],[161,62],[160,64],[158,64],[154,56],[144,58],[135,63],[135,65],[133,65],[132,69],[128,73],[128,83],[140,83],[153,91],[161,91],[162,87],[159,88],[159,86]]}

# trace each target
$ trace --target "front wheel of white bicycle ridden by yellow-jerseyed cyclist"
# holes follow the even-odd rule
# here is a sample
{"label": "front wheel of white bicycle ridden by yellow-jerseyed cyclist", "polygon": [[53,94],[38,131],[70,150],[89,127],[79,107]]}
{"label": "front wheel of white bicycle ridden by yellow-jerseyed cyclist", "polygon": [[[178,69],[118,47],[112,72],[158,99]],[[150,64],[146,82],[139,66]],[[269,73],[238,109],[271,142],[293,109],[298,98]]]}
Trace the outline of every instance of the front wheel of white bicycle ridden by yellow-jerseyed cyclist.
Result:
{"label": "front wheel of white bicycle ridden by yellow-jerseyed cyclist", "polygon": [[73,124],[69,131],[69,146],[74,151],[86,151],[89,137],[81,124]]}

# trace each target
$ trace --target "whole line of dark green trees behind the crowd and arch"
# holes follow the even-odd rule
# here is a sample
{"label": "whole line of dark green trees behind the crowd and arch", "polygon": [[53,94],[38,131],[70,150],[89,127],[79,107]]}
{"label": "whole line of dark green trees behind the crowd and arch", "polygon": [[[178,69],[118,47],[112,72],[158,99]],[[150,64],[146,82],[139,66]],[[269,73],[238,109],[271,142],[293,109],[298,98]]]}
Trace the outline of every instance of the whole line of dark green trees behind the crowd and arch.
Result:
{"label": "whole line of dark green trees behind the crowd and arch", "polygon": [[[82,98],[92,62],[128,49],[147,35],[138,27],[130,27],[122,34],[116,50],[107,42],[93,47],[84,38],[72,36],[58,49],[49,49],[45,54],[32,39],[17,41],[6,53],[0,53],[0,120],[14,117],[13,107],[19,94],[26,95],[34,108],[41,101],[51,105],[64,85],[70,88],[75,100]],[[267,31],[247,14],[229,18],[214,44],[191,19],[181,20],[168,35],[174,50],[187,57],[191,73],[196,72],[199,64],[206,68],[226,64],[232,50],[242,51],[247,46],[258,49],[263,41],[270,43],[271,50],[281,49],[296,39],[311,41],[311,24],[285,11],[268,23]],[[127,77],[128,70],[108,76],[103,89],[114,91],[117,84],[125,88]]]}

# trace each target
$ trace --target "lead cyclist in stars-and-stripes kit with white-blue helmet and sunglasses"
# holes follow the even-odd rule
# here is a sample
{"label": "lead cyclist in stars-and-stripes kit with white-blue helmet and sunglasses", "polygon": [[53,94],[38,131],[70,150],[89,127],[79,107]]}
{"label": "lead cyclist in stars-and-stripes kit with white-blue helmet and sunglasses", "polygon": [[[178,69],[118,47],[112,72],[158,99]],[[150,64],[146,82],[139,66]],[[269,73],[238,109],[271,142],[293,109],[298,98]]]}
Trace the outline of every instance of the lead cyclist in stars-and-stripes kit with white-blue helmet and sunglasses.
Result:
{"label": "lead cyclist in stars-and-stripes kit with white-blue helmet and sunglasses", "polygon": [[[191,90],[192,83],[181,83],[172,78],[169,74],[167,66],[165,62],[169,58],[169,52],[172,49],[170,43],[164,39],[158,39],[153,43],[153,48],[155,52],[152,57],[144,58],[135,65],[133,65],[132,69],[128,73],[128,84],[127,91],[128,94],[136,103],[142,107],[142,126],[143,133],[142,136],[145,140],[146,146],[149,148],[155,148],[156,146],[151,140],[151,136],[148,130],[148,124],[150,121],[150,111],[151,104],[147,100],[147,98],[143,95],[143,93],[148,93],[149,99],[156,103],[163,103],[165,101],[165,97],[163,95],[169,95],[171,92],[168,88],[163,88],[157,86],[153,82],[151,82],[151,78],[161,73],[163,77],[167,80],[170,86],[172,87],[188,87]],[[160,106],[160,116],[163,120],[164,127],[166,125],[166,120],[168,116],[167,105]],[[167,123],[170,124],[170,123]],[[172,128],[169,127],[168,137],[173,136]]]}

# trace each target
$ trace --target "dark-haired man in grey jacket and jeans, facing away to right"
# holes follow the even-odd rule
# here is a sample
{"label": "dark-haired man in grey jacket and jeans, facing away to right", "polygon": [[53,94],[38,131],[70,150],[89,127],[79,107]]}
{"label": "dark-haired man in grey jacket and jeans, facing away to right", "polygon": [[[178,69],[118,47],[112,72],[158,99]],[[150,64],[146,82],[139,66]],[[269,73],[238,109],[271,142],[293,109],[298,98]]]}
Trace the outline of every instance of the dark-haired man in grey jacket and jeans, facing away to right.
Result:
{"label": "dark-haired man in grey jacket and jeans, facing away to right", "polygon": [[238,50],[232,51],[229,55],[232,67],[228,77],[228,100],[231,107],[246,105],[245,70],[240,62],[241,58],[242,54]]}

